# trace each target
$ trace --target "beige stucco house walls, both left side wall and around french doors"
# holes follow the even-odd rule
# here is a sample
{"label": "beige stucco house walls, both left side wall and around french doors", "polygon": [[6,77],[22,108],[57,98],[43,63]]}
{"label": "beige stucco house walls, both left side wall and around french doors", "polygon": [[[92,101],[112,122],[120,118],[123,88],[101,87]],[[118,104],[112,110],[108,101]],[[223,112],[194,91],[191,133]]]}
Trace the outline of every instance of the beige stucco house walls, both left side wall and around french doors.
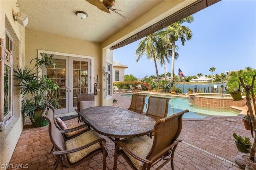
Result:
{"label": "beige stucco house walls, both left side wall and around french doors", "polygon": [[[30,65],[30,61],[33,58],[38,57],[38,49],[59,53],[86,55],[94,58],[94,65],[92,65],[94,75],[92,75],[92,81],[94,81],[94,77],[98,75],[98,80],[102,84],[102,49],[100,43],[58,36],[36,30],[25,30],[23,26],[20,26],[18,22],[14,21],[12,11],[19,11],[18,7],[16,7],[16,1],[0,1],[0,38],[5,39],[4,32],[5,28],[7,28],[8,32],[14,39],[14,49],[16,50],[13,51],[14,68],[16,68],[17,65],[20,65],[21,67]],[[108,54],[108,57],[111,58],[111,55],[112,52]],[[31,67],[33,66],[34,63],[31,64]],[[16,91],[17,88],[14,88],[15,116],[12,122],[4,128],[2,132],[0,132],[1,165],[8,164],[10,162],[14,148],[24,126],[23,119],[20,114],[20,98]],[[97,105],[102,105],[102,89],[98,95],[95,96],[95,100]],[[2,169],[2,167],[0,169]]]}

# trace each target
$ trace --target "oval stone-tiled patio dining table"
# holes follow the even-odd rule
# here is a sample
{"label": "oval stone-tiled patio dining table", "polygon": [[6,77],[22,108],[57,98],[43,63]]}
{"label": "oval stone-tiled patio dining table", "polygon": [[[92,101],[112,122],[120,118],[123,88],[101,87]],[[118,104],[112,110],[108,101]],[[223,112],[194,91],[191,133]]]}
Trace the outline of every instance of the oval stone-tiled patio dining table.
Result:
{"label": "oval stone-tiled patio dining table", "polygon": [[156,123],[151,117],[116,106],[90,107],[80,111],[80,116],[96,132],[112,141],[149,134]]}

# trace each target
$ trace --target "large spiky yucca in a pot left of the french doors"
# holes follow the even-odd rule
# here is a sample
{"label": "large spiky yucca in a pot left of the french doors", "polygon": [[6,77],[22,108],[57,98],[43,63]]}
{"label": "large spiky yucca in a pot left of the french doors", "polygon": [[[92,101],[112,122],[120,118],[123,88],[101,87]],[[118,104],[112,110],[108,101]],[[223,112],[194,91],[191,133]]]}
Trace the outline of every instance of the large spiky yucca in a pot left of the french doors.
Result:
{"label": "large spiky yucca in a pot left of the french doors", "polygon": [[21,113],[24,119],[26,117],[30,118],[34,127],[48,125],[48,121],[40,118],[44,107],[46,107],[46,102],[51,103],[55,109],[60,106],[58,103],[59,97],[56,93],[57,89],[59,89],[58,84],[47,78],[46,75],[40,77],[37,71],[38,67],[42,68],[43,65],[46,69],[49,65],[56,67],[52,59],[53,55],[50,57],[45,53],[40,53],[40,55],[42,58],[35,58],[36,64],[34,68],[24,67],[22,69],[18,67],[14,69],[14,79],[18,80],[16,85],[20,87],[20,95],[22,97]]}

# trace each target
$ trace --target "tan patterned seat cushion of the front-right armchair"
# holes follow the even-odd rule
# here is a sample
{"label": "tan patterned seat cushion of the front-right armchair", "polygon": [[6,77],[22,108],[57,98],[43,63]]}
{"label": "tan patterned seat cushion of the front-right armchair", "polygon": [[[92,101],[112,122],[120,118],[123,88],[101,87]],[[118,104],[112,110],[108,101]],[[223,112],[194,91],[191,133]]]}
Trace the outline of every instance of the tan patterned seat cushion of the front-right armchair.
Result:
{"label": "tan patterned seat cushion of the front-right armchair", "polygon": [[[132,150],[139,156],[142,156],[143,158],[146,158],[146,156],[150,152],[153,145],[153,139],[147,135],[136,137],[136,138],[124,138],[122,139],[122,142],[124,142],[124,144],[126,144],[126,146],[130,148],[130,150]],[[124,152],[130,158],[130,160],[134,163],[136,168],[138,170],[141,170],[143,166],[143,162],[134,158],[132,155],[126,152],[126,150],[124,150]]]}

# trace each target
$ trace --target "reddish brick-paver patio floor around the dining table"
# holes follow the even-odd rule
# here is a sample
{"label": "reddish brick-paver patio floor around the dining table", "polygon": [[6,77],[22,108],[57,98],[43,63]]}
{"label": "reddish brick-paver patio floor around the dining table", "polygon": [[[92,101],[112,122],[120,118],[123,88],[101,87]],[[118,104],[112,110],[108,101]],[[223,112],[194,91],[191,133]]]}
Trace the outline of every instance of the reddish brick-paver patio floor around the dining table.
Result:
{"label": "reddish brick-paver patio floor around the dining table", "polygon": [[[131,98],[122,95],[123,93],[113,95],[118,100],[113,105],[128,108]],[[251,138],[250,131],[246,130],[242,124],[242,117],[243,114],[237,117],[207,117],[202,120],[183,119],[182,132],[179,136],[182,142],[178,144],[174,157],[175,170],[240,170],[234,158],[242,153],[236,148],[233,132]],[[74,119],[66,121],[67,125],[73,123],[77,121]],[[107,140],[105,147],[108,151],[106,166],[107,169],[113,169],[114,143],[106,136],[104,138]],[[28,166],[30,170],[50,170],[55,160],[50,153],[51,148],[48,126],[34,128],[30,123],[26,123],[9,164]],[[98,155],[74,169],[96,170],[101,168],[102,158]],[[120,157],[118,170],[130,169],[126,161]],[[170,169],[170,162],[162,169]]]}

